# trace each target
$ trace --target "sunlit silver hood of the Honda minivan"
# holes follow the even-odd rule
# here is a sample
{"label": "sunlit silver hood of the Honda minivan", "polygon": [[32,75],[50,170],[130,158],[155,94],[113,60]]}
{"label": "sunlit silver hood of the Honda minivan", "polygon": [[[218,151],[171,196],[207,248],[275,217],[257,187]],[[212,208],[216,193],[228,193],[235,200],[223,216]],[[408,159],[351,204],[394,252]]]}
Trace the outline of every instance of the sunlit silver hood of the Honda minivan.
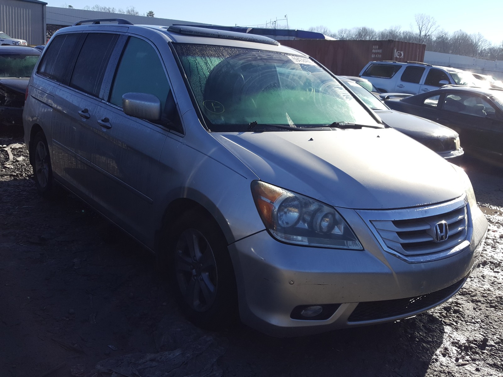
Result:
{"label": "sunlit silver hood of the Honda minivan", "polygon": [[406,208],[464,193],[452,164],[390,128],[211,135],[259,179],[334,207]]}

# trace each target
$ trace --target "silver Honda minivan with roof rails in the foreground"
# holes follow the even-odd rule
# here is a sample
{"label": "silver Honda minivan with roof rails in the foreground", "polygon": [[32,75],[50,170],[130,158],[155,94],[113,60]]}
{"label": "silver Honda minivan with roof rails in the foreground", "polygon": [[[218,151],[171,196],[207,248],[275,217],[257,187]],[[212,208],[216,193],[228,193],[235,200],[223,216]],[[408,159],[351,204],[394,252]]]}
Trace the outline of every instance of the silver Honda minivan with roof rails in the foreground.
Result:
{"label": "silver Honda minivan with roof rails in the foreground", "polygon": [[35,67],[35,182],[156,253],[195,324],[313,334],[461,289],[487,230],[461,168],[277,41],[110,21],[59,30]]}

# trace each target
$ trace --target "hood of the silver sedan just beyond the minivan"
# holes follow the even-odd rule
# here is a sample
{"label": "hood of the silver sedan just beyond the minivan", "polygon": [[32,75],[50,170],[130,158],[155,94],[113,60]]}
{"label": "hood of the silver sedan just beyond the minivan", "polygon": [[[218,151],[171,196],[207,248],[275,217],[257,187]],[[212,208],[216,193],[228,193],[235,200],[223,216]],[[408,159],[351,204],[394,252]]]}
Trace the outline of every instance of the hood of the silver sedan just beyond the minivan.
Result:
{"label": "hood of the silver sedan just beyond the minivan", "polygon": [[374,112],[390,127],[413,139],[431,140],[457,138],[459,134],[449,127],[415,115],[401,113],[395,110],[374,110]]}

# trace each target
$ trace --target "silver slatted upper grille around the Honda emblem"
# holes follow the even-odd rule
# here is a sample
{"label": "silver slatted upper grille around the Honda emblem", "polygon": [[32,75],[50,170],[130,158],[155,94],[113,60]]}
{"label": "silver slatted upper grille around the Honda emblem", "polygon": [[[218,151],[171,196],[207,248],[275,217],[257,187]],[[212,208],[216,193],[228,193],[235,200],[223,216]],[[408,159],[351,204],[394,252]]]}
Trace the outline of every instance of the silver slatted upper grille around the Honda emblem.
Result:
{"label": "silver slatted upper grille around the Honda emblem", "polygon": [[[449,231],[445,241],[436,242],[435,225],[447,222]],[[434,216],[399,220],[371,220],[385,245],[404,256],[438,253],[453,249],[467,238],[466,205]]]}

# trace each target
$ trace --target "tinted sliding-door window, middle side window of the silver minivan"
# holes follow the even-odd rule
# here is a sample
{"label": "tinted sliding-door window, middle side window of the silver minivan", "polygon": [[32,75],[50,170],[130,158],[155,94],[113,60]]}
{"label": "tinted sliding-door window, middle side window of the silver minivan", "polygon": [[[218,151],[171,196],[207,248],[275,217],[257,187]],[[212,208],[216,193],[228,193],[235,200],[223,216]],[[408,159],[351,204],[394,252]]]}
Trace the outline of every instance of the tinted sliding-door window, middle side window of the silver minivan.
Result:
{"label": "tinted sliding-door window, middle side window of the silver minivan", "polygon": [[70,86],[98,97],[108,61],[114,50],[116,34],[89,33],[78,54]]}

